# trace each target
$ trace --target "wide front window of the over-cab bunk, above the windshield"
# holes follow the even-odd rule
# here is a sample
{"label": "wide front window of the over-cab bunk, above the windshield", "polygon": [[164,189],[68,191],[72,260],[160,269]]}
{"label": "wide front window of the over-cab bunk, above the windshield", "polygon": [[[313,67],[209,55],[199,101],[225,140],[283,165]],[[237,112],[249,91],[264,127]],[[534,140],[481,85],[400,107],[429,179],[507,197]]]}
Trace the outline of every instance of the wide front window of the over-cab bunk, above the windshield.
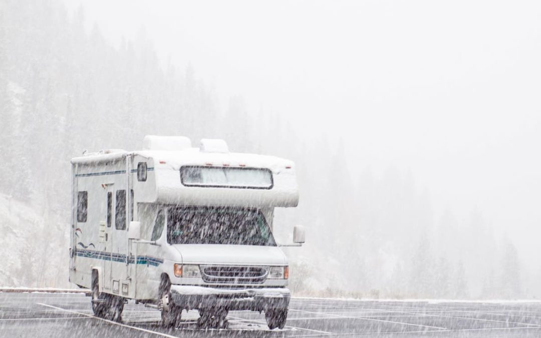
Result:
{"label": "wide front window of the over-cab bunk, above the windshield", "polygon": [[204,167],[180,168],[180,180],[187,187],[271,189],[272,172],[266,168]]}

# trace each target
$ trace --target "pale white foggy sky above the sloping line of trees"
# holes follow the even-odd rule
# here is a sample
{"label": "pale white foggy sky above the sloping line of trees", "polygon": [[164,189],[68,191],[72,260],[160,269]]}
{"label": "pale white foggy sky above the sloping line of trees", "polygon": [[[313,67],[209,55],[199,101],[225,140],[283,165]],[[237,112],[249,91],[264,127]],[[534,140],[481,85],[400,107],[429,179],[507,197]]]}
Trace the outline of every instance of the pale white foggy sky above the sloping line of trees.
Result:
{"label": "pale white foggy sky above the sloping line of trees", "polygon": [[164,67],[191,63],[223,109],[242,95],[305,142],[342,138],[352,174],[411,170],[436,211],[478,208],[537,261],[541,3],[66,4],[115,44],[144,31]]}

